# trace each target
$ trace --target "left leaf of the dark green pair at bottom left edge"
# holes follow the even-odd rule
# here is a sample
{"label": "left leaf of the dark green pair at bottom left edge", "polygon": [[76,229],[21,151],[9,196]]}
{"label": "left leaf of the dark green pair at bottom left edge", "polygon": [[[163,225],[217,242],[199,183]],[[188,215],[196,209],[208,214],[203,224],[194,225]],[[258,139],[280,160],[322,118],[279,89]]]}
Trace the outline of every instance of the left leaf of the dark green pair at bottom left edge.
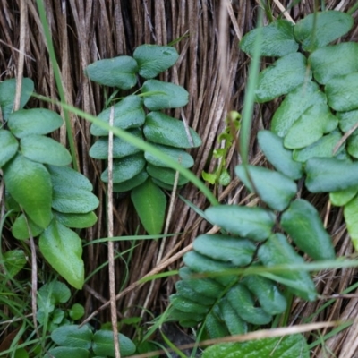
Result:
{"label": "left leaf of the dark green pair at bottom left edge", "polygon": [[56,345],[90,349],[93,333],[88,326],[79,328],[77,325],[68,325],[56,328],[51,334],[51,339]]}

